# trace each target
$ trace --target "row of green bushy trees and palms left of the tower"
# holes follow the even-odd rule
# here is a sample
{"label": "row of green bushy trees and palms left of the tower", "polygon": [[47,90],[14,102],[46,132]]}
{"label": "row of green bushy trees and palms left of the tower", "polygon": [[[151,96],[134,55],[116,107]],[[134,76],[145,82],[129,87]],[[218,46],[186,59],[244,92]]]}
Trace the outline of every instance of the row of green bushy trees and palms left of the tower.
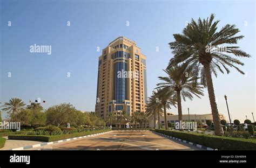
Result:
{"label": "row of green bushy trees and palms left of the tower", "polygon": [[48,109],[43,109],[41,103],[26,104],[18,98],[5,102],[2,109],[7,112],[8,120],[21,122],[26,126],[67,125],[79,126],[105,126],[105,122],[95,113],[82,113],[70,103],[57,104]]}

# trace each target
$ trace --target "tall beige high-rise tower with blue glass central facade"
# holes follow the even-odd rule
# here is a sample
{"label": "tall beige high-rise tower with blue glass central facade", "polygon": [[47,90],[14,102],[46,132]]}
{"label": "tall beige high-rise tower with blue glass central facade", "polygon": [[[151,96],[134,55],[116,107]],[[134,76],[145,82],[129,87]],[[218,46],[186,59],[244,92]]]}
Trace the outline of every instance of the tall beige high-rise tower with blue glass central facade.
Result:
{"label": "tall beige high-rise tower with blue glass central facade", "polygon": [[145,112],[147,100],[146,56],[136,43],[118,37],[99,57],[95,111],[106,119],[107,113],[126,110]]}

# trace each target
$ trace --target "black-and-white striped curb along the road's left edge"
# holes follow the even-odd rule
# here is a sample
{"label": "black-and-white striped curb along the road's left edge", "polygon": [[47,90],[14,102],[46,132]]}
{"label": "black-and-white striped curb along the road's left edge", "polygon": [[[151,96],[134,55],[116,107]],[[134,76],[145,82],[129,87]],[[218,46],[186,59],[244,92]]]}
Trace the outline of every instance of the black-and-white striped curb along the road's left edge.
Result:
{"label": "black-and-white striped curb along the road's left edge", "polygon": [[80,138],[86,138],[86,137],[91,137],[91,136],[97,136],[97,135],[108,134],[108,133],[110,133],[110,132],[112,132],[112,131],[102,132],[102,133],[98,133],[98,134],[85,135],[85,136],[80,136],[80,137],[75,137],[75,138],[62,139],[62,140],[53,141],[53,142],[43,142],[43,143],[40,143],[40,144],[29,145],[29,146],[23,146],[23,147],[14,148],[14,149],[9,149],[9,150],[24,150],[24,149],[37,148],[37,147],[40,147],[40,146],[45,146],[45,145],[50,145],[50,144],[56,144],[56,143],[60,143],[60,142],[67,142],[67,141],[71,141],[71,140],[75,140],[75,139],[80,139]]}

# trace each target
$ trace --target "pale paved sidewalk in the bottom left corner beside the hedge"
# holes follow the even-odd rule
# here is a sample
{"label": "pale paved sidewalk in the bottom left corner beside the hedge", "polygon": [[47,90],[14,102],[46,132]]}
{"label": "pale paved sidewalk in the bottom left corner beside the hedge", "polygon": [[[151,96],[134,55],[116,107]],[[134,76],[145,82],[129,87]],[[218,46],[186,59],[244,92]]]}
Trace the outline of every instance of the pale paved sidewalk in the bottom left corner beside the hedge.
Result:
{"label": "pale paved sidewalk in the bottom left corner beside the hedge", "polygon": [[24,140],[13,140],[13,139],[8,139],[8,137],[3,137],[6,138],[6,142],[3,148],[0,150],[10,150],[13,148],[19,148],[23,146],[29,146],[29,145],[36,145],[42,143],[41,141],[24,141]]}

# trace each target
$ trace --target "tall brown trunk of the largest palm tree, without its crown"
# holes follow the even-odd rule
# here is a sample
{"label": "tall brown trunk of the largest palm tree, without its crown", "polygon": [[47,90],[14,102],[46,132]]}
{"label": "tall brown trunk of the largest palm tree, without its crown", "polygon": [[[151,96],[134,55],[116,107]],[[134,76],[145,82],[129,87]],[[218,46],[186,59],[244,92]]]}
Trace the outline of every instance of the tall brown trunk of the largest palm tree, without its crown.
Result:
{"label": "tall brown trunk of the largest palm tree, without its crown", "polygon": [[206,77],[206,82],[207,82],[208,96],[209,96],[211,109],[212,109],[212,118],[213,118],[215,135],[222,136],[223,131],[222,131],[221,124],[220,124],[217,103],[215,101],[215,94],[214,94],[214,88],[213,88],[213,83],[212,83],[210,64],[205,64],[204,70],[205,70],[205,77]]}

